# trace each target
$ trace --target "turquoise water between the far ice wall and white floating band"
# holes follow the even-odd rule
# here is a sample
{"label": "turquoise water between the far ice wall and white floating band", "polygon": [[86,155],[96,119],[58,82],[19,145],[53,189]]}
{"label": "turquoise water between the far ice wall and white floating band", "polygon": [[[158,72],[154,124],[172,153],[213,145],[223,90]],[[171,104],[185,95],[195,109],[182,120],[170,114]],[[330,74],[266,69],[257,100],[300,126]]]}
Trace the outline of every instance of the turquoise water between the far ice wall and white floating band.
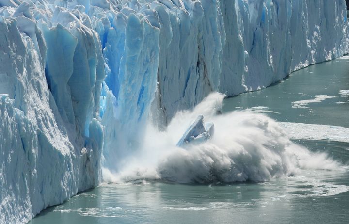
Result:
{"label": "turquoise water between the far ice wall and white floating band", "polygon": [[[268,107],[272,112],[266,114],[277,121],[349,127],[349,97],[343,94],[345,90],[349,91],[349,57],[309,66],[266,89],[228,98],[223,111]],[[314,100],[317,95],[333,98],[307,105],[292,104]]]}

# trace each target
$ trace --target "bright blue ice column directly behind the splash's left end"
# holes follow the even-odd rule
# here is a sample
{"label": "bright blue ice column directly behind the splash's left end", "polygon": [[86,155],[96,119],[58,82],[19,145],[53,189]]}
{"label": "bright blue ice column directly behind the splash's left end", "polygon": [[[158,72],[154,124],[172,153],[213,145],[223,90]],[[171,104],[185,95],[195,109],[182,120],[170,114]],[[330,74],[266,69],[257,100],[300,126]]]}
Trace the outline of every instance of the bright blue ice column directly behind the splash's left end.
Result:
{"label": "bright blue ice column directly behind the splash's left end", "polygon": [[142,139],[155,96],[159,64],[160,31],[158,20],[154,20],[157,14],[152,10],[144,11],[146,15],[128,8],[122,11],[127,16],[118,13],[111,27],[108,24],[108,29],[101,29],[108,34],[100,33],[106,36],[103,51],[107,73],[101,105],[105,127],[103,165],[112,171],[122,166],[122,159]]}

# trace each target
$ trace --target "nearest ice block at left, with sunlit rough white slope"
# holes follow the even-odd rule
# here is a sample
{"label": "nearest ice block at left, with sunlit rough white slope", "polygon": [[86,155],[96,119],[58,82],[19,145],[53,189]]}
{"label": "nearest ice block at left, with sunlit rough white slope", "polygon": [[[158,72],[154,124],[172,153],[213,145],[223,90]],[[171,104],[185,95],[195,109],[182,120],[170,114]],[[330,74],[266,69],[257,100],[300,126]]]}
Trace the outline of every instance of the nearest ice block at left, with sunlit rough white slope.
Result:
{"label": "nearest ice block at left, with sunlit rough white slope", "polygon": [[0,16],[0,223],[26,223],[100,178],[99,37],[68,12],[36,21],[32,6],[0,13],[13,13]]}

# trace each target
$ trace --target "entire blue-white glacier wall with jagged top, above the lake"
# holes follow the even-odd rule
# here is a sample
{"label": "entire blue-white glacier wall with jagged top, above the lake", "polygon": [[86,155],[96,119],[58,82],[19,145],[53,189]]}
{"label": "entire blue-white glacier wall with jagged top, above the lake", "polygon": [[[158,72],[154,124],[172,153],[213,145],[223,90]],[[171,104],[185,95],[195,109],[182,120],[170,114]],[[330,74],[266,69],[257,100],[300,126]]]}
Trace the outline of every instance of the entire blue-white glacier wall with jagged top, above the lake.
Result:
{"label": "entire blue-white glacier wall with jagged top, above the lake", "polygon": [[149,117],[348,52],[345,0],[0,0],[0,223],[120,170]]}

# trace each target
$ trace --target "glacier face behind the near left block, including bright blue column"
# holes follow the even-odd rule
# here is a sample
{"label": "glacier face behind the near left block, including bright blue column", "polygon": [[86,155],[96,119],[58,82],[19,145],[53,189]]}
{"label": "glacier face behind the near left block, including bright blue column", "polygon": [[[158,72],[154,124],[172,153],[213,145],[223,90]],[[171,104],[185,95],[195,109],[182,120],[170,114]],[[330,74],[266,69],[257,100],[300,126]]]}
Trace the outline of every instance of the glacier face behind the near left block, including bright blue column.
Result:
{"label": "glacier face behind the near left block, including bright blue column", "polygon": [[[348,52],[343,0],[118,3],[103,10],[91,6],[88,13],[106,60],[103,154],[113,171],[142,143],[149,113],[165,128],[177,111],[193,108],[210,92],[258,90]],[[132,48],[126,46],[129,36],[138,37]],[[130,49],[138,57],[128,64]]]}

